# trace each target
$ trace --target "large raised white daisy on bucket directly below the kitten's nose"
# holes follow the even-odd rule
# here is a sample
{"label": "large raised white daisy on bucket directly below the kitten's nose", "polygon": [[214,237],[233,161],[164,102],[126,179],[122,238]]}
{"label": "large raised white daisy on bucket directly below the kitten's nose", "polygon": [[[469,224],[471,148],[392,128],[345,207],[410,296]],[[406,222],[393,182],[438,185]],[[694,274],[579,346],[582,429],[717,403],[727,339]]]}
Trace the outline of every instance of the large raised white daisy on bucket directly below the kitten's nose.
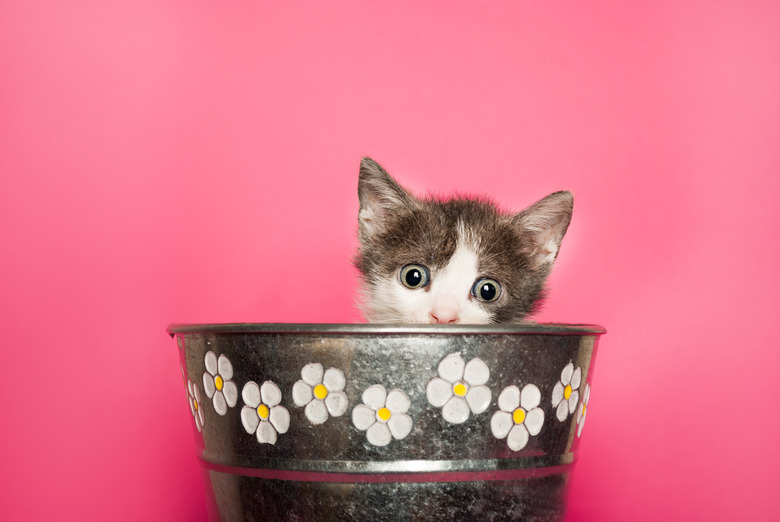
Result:
{"label": "large raised white daisy on bucket directly below the kitten's nose", "polygon": [[484,361],[474,358],[466,363],[459,353],[451,353],[439,362],[438,371],[425,392],[431,406],[441,408],[444,420],[462,424],[471,413],[487,410],[491,392],[485,383],[490,370]]}

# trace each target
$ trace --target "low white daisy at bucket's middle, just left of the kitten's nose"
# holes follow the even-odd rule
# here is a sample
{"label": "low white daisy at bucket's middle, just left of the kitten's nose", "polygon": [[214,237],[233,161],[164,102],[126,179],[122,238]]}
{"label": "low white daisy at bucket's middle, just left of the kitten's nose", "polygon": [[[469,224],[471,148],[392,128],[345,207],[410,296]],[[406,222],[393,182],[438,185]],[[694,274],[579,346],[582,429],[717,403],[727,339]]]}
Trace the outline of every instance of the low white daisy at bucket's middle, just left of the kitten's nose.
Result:
{"label": "low white daisy at bucket's middle, just left of the kitten's nose", "polygon": [[366,432],[366,439],[374,446],[387,446],[392,439],[400,440],[412,431],[412,418],[406,414],[411,401],[401,390],[387,393],[376,384],[363,392],[363,404],[352,410],[352,423]]}

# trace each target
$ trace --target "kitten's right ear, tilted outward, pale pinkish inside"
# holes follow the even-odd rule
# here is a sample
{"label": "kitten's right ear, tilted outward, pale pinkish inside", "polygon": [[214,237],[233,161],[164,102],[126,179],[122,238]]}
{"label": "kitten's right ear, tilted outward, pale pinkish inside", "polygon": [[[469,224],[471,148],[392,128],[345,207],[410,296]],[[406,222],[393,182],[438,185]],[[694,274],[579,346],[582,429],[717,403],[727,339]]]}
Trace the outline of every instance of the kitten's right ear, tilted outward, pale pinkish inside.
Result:
{"label": "kitten's right ear, tilted outward, pale pinkish inside", "polygon": [[525,239],[524,251],[531,258],[531,268],[549,268],[558,256],[574,207],[571,192],[561,191],[537,201],[512,218]]}

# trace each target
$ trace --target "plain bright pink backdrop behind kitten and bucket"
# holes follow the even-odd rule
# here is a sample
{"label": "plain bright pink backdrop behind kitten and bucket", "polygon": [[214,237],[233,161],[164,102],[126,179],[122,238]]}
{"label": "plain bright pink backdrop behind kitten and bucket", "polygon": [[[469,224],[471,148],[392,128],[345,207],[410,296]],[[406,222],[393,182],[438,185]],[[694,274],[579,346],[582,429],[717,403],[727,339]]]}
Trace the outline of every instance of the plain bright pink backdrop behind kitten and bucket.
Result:
{"label": "plain bright pink backdrop behind kitten and bucket", "polygon": [[569,520],[777,516],[776,2],[127,3],[0,7],[0,518],[205,518],[165,327],[360,320],[362,155],[575,192]]}

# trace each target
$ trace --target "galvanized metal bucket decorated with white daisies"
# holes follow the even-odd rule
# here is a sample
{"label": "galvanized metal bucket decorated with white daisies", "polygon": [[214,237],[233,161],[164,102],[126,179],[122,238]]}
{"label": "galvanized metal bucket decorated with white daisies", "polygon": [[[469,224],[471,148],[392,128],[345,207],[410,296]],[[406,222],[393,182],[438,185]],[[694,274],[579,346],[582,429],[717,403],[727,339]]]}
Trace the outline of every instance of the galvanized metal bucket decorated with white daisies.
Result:
{"label": "galvanized metal bucket decorated with white daisies", "polygon": [[560,520],[593,325],[171,325],[213,520]]}

